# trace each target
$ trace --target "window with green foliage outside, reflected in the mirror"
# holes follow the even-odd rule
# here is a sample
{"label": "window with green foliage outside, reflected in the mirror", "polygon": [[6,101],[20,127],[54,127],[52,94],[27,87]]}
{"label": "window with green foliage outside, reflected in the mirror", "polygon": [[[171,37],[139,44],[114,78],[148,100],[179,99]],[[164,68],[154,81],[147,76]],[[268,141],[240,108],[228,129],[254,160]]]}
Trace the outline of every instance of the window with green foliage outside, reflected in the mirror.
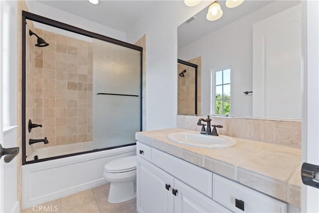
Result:
{"label": "window with green foliage outside, reflected in the mirror", "polygon": [[212,70],[212,113],[230,115],[230,66]]}

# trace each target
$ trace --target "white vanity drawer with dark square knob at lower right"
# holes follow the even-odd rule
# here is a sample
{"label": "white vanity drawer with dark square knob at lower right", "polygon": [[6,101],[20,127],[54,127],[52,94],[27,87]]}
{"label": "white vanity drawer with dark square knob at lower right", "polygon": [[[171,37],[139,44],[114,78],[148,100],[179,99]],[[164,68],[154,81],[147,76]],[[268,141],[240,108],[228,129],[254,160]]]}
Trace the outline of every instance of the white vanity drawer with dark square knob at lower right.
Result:
{"label": "white vanity drawer with dark square knob at lower right", "polygon": [[216,174],[213,174],[213,200],[234,212],[287,212],[285,203]]}

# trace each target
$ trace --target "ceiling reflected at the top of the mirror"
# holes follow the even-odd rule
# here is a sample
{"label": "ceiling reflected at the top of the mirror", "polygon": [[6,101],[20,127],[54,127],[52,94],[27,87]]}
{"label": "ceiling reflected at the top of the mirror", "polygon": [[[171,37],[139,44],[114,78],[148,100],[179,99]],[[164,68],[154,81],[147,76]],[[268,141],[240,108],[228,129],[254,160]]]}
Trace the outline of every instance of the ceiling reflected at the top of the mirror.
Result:
{"label": "ceiling reflected at the top of the mirror", "polygon": [[215,21],[206,19],[208,7],[198,12],[191,22],[183,23],[177,28],[178,33],[178,48],[191,43],[212,31],[225,26],[271,2],[274,0],[245,0],[242,4],[235,8],[228,8],[225,5],[225,0],[219,0],[223,15]]}

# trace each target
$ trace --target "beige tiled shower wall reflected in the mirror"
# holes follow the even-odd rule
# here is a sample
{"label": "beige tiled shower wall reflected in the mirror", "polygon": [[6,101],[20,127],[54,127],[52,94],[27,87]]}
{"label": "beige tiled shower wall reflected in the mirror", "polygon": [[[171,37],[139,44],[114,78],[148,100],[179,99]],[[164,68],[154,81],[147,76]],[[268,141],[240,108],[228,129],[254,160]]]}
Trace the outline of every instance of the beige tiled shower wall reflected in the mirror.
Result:
{"label": "beige tiled shower wall reflected in the mirror", "polygon": [[[188,62],[197,64],[197,114],[201,109],[201,57],[193,58]],[[183,70],[185,77],[178,74]],[[177,114],[194,115],[195,114],[195,68],[184,64],[177,64]]]}

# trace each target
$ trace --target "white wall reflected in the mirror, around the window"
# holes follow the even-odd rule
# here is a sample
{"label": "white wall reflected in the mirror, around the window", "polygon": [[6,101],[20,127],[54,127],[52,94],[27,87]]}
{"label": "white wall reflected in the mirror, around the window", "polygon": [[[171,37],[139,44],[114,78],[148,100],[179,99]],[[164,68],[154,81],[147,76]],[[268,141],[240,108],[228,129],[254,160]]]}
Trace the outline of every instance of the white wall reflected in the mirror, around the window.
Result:
{"label": "white wall reflected in the mirror, around the window", "polygon": [[[210,70],[231,65],[231,115],[252,116],[252,24],[300,1],[275,1],[178,49],[178,58],[202,57],[202,114],[210,111]],[[224,14],[227,15],[227,14]]]}

